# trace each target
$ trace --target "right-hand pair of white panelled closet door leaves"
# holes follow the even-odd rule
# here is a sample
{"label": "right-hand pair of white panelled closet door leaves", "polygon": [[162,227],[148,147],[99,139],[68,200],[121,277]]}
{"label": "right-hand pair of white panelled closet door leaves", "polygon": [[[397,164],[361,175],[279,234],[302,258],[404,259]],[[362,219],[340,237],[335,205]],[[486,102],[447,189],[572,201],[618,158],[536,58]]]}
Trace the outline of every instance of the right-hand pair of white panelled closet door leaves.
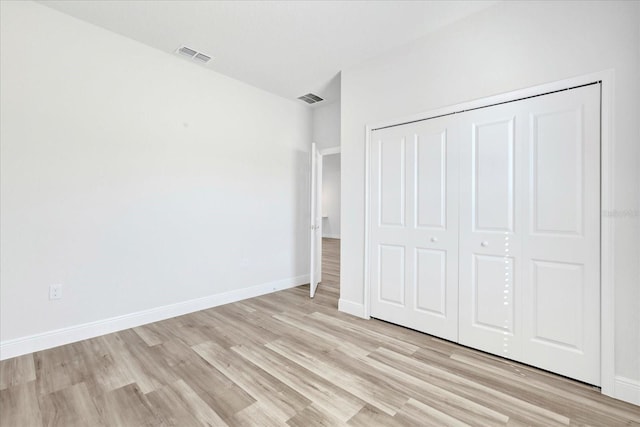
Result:
{"label": "right-hand pair of white panelled closet door leaves", "polygon": [[600,95],[461,115],[460,343],[600,384]]}

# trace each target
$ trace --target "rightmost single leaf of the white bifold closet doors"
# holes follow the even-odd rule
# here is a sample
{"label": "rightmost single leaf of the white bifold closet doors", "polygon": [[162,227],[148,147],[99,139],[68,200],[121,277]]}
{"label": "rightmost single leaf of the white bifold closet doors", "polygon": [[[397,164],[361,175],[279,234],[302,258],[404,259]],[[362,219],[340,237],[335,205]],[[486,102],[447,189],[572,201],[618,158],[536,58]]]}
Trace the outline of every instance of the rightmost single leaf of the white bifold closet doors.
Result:
{"label": "rightmost single leaf of the white bifold closet doors", "polygon": [[600,385],[600,85],[527,107],[526,360]]}

